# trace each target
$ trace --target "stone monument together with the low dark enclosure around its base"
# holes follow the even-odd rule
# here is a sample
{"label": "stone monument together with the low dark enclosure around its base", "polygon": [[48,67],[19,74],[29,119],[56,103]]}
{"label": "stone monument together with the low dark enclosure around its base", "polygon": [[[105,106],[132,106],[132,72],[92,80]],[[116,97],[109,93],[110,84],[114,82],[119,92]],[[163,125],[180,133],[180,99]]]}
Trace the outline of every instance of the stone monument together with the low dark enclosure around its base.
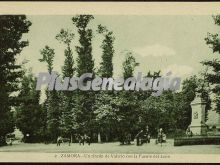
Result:
{"label": "stone monument together with the low dark enclosure around its base", "polygon": [[[192,119],[189,125],[190,136],[182,136],[174,138],[174,146],[182,145],[201,145],[201,144],[220,144],[220,134],[219,134],[219,120],[220,116],[217,113],[208,113],[208,120],[206,122],[206,102],[201,99],[200,96],[196,98],[191,103],[192,107]],[[210,111],[210,110],[209,110]],[[214,119],[213,122],[212,120]],[[212,122],[211,122],[212,121]],[[210,125],[208,125],[208,123]],[[215,126],[215,130],[208,128],[208,126]],[[191,133],[193,136],[191,136]]]}

